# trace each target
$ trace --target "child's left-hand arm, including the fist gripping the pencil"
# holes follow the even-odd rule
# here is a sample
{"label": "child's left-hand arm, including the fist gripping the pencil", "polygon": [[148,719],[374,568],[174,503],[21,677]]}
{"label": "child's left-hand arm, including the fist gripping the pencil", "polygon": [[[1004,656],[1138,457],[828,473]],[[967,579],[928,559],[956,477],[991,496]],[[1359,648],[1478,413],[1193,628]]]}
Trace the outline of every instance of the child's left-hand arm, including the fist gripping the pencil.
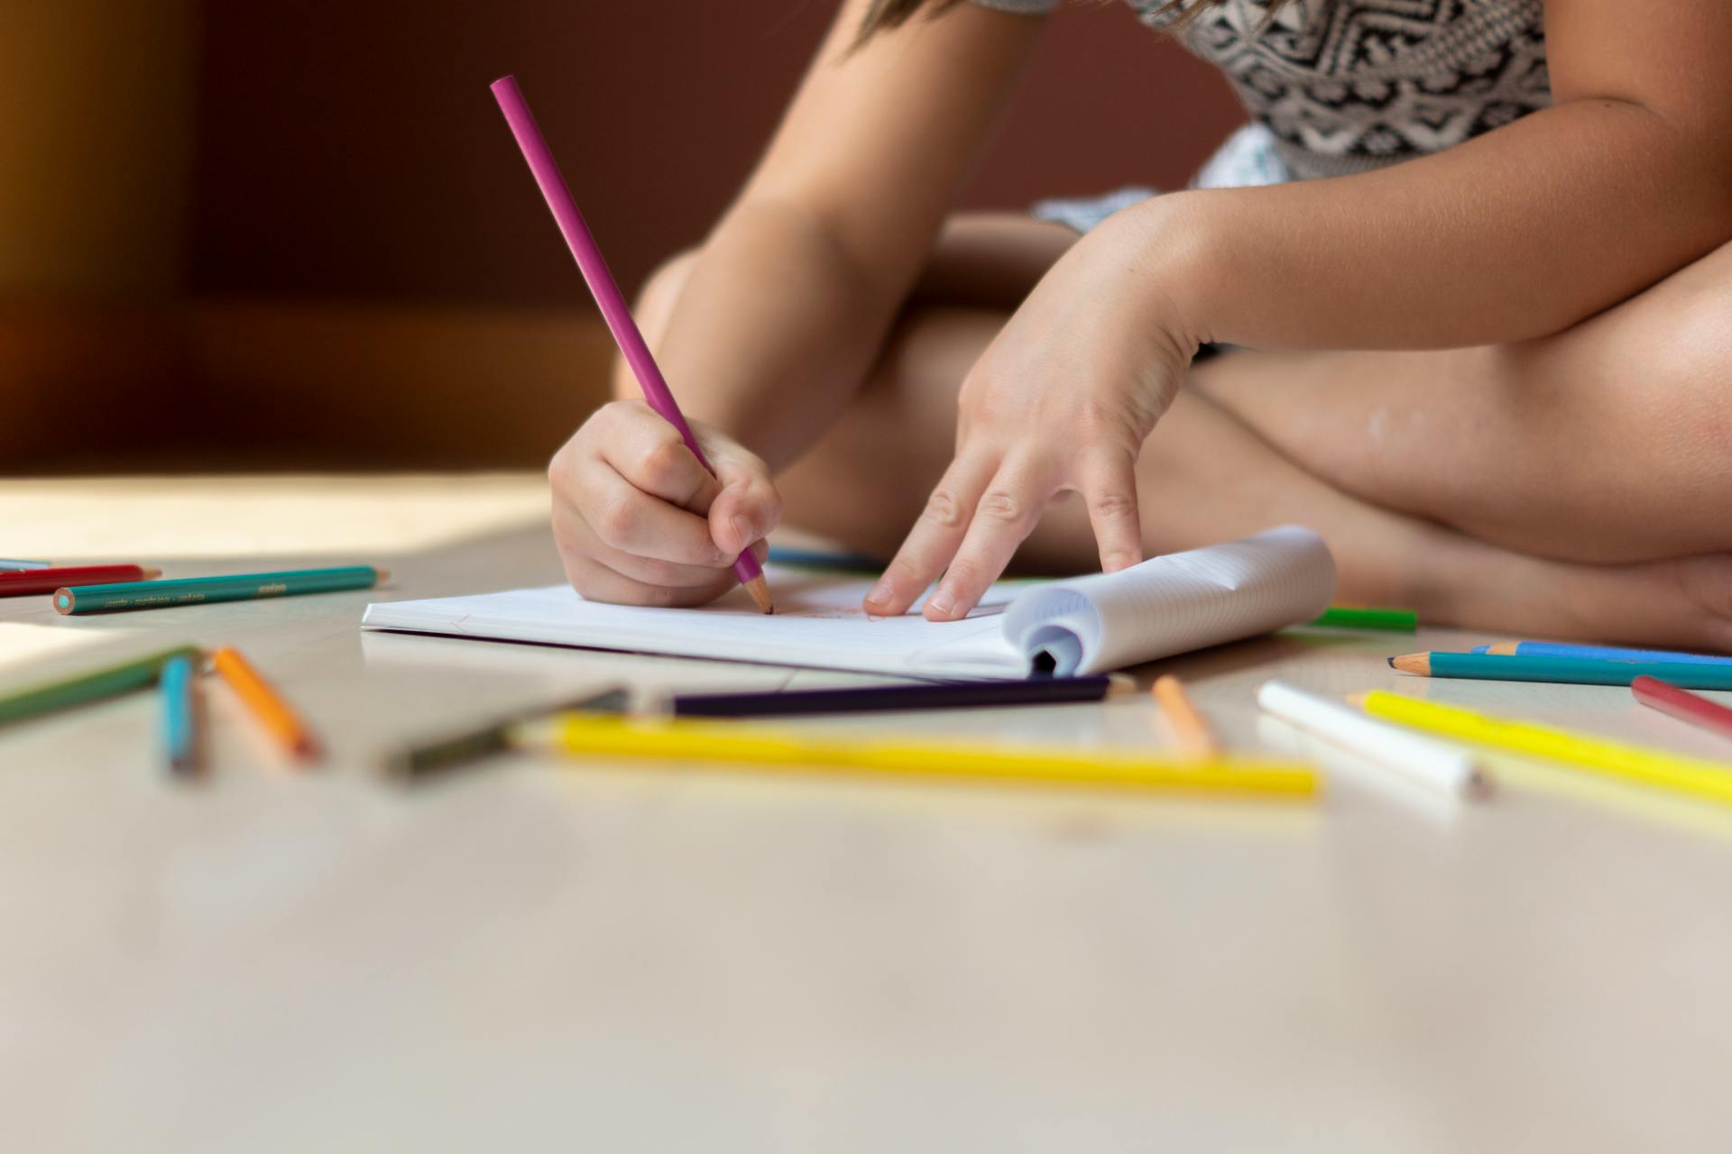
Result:
{"label": "child's left-hand arm, including the fist gripping the pencil", "polygon": [[842,7],[656,348],[715,478],[639,401],[598,410],[553,460],[554,540],[585,597],[701,604],[733,585],[731,559],[779,517],[771,467],[871,369],[1043,26],[965,3],[850,50],[866,7]]}

